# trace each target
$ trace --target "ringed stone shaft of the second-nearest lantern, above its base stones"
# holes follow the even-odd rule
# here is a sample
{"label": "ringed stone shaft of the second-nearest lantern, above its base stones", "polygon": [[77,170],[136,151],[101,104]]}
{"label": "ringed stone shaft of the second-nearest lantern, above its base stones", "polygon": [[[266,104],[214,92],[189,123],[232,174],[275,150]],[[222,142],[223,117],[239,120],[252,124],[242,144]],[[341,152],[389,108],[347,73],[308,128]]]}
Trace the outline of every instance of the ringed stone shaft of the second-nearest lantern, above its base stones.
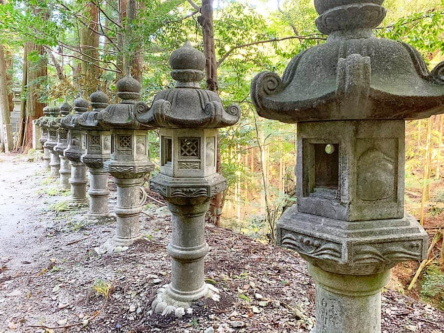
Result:
{"label": "ringed stone shaft of the second-nearest lantern, above its base stones", "polygon": [[167,295],[181,302],[191,302],[208,293],[204,258],[208,253],[205,213],[210,203],[208,198],[204,200],[196,205],[168,202],[173,217],[171,241],[167,250],[173,258],[173,279],[167,288]]}

